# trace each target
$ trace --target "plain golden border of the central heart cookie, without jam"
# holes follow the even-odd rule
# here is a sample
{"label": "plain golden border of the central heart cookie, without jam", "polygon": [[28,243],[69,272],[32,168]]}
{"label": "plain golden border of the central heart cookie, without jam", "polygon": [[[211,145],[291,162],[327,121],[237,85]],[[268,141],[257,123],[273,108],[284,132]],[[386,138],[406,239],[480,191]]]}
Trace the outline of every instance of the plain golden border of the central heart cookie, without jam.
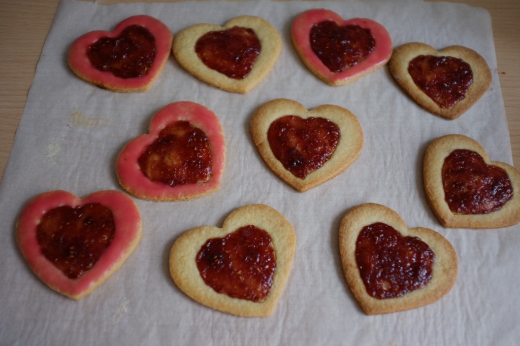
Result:
{"label": "plain golden border of the central heart cookie, without jam", "polygon": [[[341,139],[331,158],[317,170],[310,172],[305,179],[293,175],[275,157],[267,140],[269,126],[285,115],[302,118],[323,117],[335,123],[341,130]],[[357,117],[349,110],[331,104],[323,104],[312,110],[289,99],[275,99],[264,103],[251,118],[251,136],[258,152],[267,166],[295,190],[304,192],[314,188],[342,173],[361,153],[363,132]]]}

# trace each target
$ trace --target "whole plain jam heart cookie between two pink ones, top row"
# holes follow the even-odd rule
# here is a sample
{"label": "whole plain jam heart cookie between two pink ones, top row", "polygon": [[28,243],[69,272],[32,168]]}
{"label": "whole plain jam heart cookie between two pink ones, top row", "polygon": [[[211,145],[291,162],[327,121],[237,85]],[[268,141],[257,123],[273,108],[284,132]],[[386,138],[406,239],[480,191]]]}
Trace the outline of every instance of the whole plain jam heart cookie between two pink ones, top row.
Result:
{"label": "whole plain jam heart cookie between two pink ones, top row", "polygon": [[245,94],[264,79],[280,56],[282,40],[266,20],[240,16],[224,26],[196,24],[179,32],[173,54],[201,81]]}

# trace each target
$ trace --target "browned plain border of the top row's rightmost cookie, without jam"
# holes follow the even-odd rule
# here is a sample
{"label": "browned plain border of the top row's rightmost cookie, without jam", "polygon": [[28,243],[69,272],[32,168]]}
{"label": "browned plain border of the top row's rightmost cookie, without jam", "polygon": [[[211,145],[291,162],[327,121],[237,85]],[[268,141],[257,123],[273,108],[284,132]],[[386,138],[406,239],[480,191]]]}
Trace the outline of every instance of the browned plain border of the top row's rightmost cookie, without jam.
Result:
{"label": "browned plain border of the top row's rightmost cookie, without jam", "polygon": [[[470,64],[473,71],[473,83],[467,91],[466,97],[453,107],[440,108],[430,97],[419,89],[408,73],[408,64],[419,55],[450,56],[460,58]],[[412,42],[394,49],[392,57],[388,62],[392,76],[399,86],[422,108],[443,118],[452,120],[461,116],[470,109],[480,97],[484,95],[491,84],[491,71],[486,60],[476,51],[463,46],[450,46],[441,50],[428,46],[424,43]]]}

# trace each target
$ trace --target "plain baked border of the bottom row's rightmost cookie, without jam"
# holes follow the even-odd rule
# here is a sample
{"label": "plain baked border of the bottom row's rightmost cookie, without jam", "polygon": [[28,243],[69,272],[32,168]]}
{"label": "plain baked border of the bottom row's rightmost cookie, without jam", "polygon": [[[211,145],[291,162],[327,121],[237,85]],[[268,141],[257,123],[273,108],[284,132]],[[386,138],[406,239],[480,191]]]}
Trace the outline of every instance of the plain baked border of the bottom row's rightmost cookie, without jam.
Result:
{"label": "plain baked border of the bottom row's rightmost cookie, without jam", "polygon": [[[430,246],[435,253],[435,262],[432,279],[425,287],[398,298],[377,299],[367,293],[356,262],[356,241],[363,227],[374,222],[384,222],[403,236],[417,236]],[[339,244],[347,284],[367,315],[410,310],[434,303],[451,290],[457,278],[457,254],[445,237],[427,228],[408,229],[394,210],[380,204],[361,204],[349,210],[340,224]]]}

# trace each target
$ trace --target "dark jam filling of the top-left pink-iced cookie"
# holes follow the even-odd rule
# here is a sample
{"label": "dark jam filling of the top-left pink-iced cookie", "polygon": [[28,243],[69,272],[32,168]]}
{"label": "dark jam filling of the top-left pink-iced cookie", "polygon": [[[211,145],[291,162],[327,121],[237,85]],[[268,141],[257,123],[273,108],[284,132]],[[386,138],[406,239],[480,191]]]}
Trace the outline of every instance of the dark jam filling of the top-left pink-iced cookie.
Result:
{"label": "dark jam filling of the top-left pink-iced cookie", "polygon": [[155,38],[140,25],[128,26],[119,37],[101,37],[88,46],[92,66],[120,78],[141,77],[155,58]]}

